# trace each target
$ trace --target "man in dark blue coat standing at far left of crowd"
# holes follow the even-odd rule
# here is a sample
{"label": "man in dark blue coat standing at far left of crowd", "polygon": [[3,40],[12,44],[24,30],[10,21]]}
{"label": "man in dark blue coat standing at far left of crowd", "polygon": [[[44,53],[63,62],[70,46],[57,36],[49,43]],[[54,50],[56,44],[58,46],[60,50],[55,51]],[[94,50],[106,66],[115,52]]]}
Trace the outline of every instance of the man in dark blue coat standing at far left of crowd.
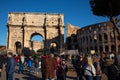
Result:
{"label": "man in dark blue coat standing at far left of crowd", "polygon": [[16,62],[12,52],[8,52],[7,57],[8,59],[6,64],[6,80],[13,80]]}

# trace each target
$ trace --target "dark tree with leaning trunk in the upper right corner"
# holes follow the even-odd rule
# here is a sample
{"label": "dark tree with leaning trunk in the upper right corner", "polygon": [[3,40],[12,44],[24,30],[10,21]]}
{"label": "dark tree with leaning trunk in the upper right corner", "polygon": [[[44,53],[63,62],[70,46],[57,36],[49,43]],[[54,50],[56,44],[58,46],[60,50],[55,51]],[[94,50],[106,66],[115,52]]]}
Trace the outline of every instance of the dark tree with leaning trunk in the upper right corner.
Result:
{"label": "dark tree with leaning trunk in the upper right corner", "polygon": [[120,0],[90,0],[90,7],[94,15],[108,17],[110,19],[113,24],[114,38],[116,40],[116,31],[120,34],[117,27],[117,17],[120,14]]}

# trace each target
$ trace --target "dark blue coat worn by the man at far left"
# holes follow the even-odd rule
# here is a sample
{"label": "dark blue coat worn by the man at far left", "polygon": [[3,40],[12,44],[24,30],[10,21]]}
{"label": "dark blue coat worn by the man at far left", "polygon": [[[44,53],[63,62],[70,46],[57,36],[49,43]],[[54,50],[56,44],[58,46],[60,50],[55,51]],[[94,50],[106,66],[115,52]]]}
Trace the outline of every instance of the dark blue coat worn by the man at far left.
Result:
{"label": "dark blue coat worn by the man at far left", "polygon": [[7,65],[6,65],[6,73],[8,73],[8,74],[14,73],[15,66],[16,66],[15,59],[13,57],[8,58]]}

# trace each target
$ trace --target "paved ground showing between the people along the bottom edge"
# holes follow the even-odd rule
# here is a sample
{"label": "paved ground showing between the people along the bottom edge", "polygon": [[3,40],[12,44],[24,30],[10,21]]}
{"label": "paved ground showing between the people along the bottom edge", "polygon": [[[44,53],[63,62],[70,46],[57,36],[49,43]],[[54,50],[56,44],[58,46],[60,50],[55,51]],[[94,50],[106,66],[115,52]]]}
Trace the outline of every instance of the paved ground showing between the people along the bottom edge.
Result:
{"label": "paved ground showing between the people along the bottom edge", "polygon": [[[67,73],[67,80],[75,80],[76,73],[74,71],[68,71]],[[6,80],[6,73],[5,71],[2,72],[2,77],[0,80]],[[42,80],[41,79],[41,72],[39,72],[37,75],[32,73],[28,74],[27,71],[24,72],[24,74],[18,74],[17,70],[14,73],[14,80]]]}

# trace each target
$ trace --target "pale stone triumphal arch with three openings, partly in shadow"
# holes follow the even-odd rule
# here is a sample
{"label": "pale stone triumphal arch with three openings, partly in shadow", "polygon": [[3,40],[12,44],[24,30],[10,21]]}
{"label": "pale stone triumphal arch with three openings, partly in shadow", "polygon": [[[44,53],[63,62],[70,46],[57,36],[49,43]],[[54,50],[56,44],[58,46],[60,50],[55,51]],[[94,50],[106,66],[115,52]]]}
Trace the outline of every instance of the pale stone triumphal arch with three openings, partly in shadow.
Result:
{"label": "pale stone triumphal arch with three openings, partly in shadow", "polygon": [[7,48],[16,53],[16,48],[31,48],[31,38],[40,35],[44,50],[49,51],[55,43],[57,51],[64,44],[64,15],[48,13],[9,13]]}

